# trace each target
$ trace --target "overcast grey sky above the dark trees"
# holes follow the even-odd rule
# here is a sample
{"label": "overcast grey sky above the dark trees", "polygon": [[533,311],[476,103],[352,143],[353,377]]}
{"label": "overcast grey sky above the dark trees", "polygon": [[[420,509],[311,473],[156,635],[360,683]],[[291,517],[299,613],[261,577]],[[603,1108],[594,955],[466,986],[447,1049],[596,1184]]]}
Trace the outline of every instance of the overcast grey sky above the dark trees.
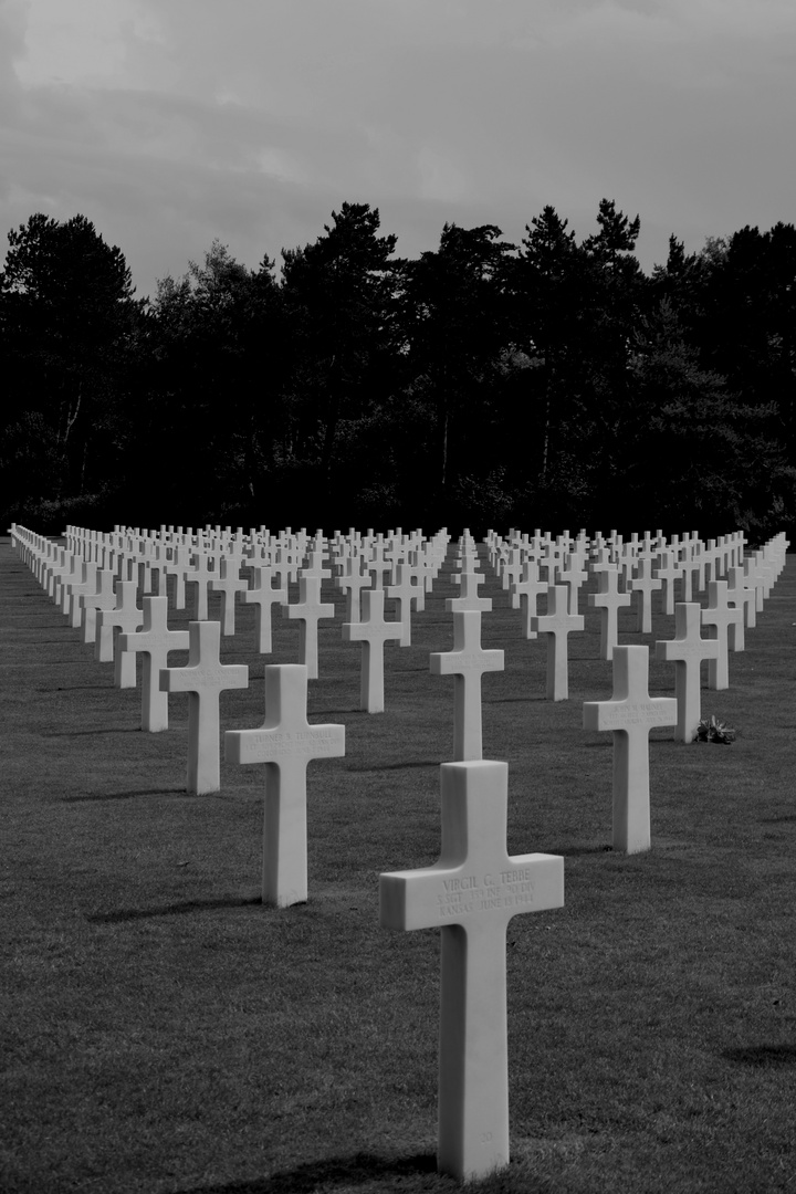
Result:
{"label": "overcast grey sky above the dark trees", "polygon": [[416,257],[612,198],[650,270],[796,222],[795,141],[796,0],[0,0],[0,246],[81,213],[138,295],[346,199]]}

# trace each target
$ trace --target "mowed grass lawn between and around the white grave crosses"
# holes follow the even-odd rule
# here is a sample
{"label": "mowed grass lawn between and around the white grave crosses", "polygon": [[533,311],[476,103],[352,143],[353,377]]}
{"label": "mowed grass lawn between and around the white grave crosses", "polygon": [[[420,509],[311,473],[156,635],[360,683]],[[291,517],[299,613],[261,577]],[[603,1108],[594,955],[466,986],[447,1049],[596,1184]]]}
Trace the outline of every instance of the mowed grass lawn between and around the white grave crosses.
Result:
{"label": "mowed grass lawn between and around the white grave crosses", "polygon": [[[450,568],[413,646],[387,647],[380,715],[325,584],[310,721],[345,724],[346,755],[310,764],[309,901],[276,911],[264,768],[222,762],[222,790],[187,796],[187,698],[143,734],[140,693],[1,541],[4,1192],[455,1189],[434,1169],[439,934],[378,925],[378,873],[439,851],[452,681],[428,652],[452,646]],[[653,849],[633,856],[610,850],[611,736],[581,730],[611,694],[598,616],[581,595],[551,704],[544,642],[488,578],[506,671],[483,678],[485,757],[510,765],[510,853],[564,855],[566,906],[510,924],[512,1162],[474,1189],[796,1189],[795,558],[730,689],[703,689],[738,740],[653,731]],[[652,636],[621,614],[621,641],[672,638],[655,610]],[[251,685],[222,695],[223,728],[263,720],[264,666],[297,650],[277,617],[258,657],[237,610],[222,659]],[[653,658],[650,693],[673,676]]]}

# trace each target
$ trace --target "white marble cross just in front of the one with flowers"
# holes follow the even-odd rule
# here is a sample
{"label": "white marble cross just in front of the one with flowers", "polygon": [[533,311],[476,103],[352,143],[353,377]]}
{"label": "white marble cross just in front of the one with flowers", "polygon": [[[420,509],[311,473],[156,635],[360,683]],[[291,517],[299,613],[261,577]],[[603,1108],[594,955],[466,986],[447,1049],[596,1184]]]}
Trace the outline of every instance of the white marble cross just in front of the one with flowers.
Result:
{"label": "white marble cross just in front of the one with flowers", "polygon": [[613,733],[613,849],[650,847],[649,731],[677,722],[677,701],[649,695],[649,648],[613,648],[613,695],[584,702],[584,730]]}

